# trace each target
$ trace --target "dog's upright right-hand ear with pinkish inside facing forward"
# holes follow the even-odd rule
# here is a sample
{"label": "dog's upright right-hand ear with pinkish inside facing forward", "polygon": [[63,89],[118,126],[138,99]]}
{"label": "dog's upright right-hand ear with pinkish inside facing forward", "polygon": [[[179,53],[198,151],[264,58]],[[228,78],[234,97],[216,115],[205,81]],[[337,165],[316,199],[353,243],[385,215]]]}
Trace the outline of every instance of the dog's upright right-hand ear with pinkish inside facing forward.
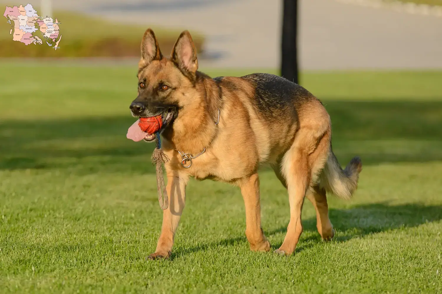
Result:
{"label": "dog's upright right-hand ear with pinkish inside facing forward", "polygon": [[196,48],[189,31],[185,30],[179,35],[173,47],[171,57],[183,71],[195,73],[198,70]]}

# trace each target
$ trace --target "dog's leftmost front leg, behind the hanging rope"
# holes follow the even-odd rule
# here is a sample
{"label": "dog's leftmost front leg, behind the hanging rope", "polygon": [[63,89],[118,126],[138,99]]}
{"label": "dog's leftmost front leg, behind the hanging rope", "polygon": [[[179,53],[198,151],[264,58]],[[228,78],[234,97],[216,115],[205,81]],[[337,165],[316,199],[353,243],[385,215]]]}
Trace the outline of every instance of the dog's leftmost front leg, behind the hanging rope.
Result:
{"label": "dog's leftmost front leg, behind the hanging rope", "polygon": [[180,178],[178,176],[168,175],[166,190],[169,198],[169,206],[163,211],[163,225],[161,227],[160,238],[158,239],[155,253],[150,254],[149,259],[169,258],[171,255],[175,231],[186,202],[187,182],[188,177]]}

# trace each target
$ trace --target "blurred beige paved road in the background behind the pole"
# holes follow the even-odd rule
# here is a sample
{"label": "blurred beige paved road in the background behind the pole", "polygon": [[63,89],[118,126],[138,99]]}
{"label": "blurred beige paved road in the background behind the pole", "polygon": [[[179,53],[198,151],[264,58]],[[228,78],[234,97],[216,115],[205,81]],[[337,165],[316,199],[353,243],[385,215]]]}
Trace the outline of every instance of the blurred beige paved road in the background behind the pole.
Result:
{"label": "blurred beige paved road in the background behind the pole", "polygon": [[[202,67],[278,67],[281,0],[64,0],[122,22],[204,33]],[[61,3],[60,3],[61,2]],[[442,18],[300,0],[303,69],[442,68]],[[140,36],[141,38],[141,36]]]}

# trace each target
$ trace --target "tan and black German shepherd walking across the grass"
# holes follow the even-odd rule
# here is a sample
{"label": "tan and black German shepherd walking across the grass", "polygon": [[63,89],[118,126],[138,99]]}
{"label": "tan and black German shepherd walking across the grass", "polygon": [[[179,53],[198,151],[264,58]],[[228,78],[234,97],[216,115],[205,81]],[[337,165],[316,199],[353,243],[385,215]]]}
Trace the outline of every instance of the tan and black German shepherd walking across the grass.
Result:
{"label": "tan and black German shepherd walking across the grass", "polygon": [[[190,177],[239,186],[250,249],[269,251],[259,200],[258,167],[264,163],[274,169],[289,195],[287,234],[274,252],[294,252],[302,232],[304,197],[316,209],[321,237],[333,238],[326,191],[350,198],[362,163],[354,157],[341,168],[331,150],[330,116],[320,100],[273,74],[210,78],[198,71],[196,48],[187,30],[180,34],[170,58],[161,54],[153,31],[146,30],[137,76],[132,115],[162,115],[162,149],[170,158],[165,164],[169,205],[149,259],[170,257]],[[146,133],[144,140],[153,141],[155,136]]]}

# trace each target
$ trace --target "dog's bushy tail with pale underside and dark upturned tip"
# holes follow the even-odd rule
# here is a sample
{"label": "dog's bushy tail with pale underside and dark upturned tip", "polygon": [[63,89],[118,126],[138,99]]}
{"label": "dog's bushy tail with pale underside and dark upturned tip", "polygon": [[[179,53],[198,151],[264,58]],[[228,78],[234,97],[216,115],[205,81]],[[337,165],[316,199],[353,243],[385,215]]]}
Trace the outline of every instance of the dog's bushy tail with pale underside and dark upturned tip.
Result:
{"label": "dog's bushy tail with pale underside and dark upturned tip", "polygon": [[321,172],[320,186],[343,199],[350,199],[358,188],[359,173],[362,171],[362,161],[354,157],[343,170],[336,159],[333,150],[328,155],[327,163]]}

